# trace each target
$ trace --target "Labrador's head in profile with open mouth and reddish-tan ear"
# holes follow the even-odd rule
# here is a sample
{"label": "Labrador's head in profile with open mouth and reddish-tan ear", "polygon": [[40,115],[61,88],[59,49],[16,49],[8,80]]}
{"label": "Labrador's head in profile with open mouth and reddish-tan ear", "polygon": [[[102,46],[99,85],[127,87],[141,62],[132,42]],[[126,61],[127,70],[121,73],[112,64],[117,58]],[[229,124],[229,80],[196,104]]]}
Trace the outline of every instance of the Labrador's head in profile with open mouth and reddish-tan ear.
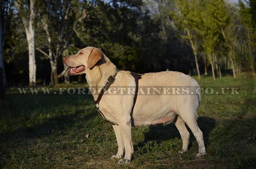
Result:
{"label": "Labrador's head in profile with open mouth and reddish-tan ear", "polygon": [[86,47],[77,54],[63,57],[63,62],[70,67],[69,75],[86,73],[86,69],[92,69],[102,59],[102,52],[96,47]]}

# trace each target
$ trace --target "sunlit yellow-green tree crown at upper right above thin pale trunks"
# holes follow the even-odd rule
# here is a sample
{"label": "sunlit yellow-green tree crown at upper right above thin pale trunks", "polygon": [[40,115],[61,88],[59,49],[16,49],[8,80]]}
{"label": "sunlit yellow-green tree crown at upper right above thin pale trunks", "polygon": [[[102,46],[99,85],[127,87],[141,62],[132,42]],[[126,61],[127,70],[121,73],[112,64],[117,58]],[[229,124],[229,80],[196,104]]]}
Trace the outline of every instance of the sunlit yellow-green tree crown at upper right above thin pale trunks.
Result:
{"label": "sunlit yellow-green tree crown at upper right above thin pale trunks", "polygon": [[[183,0],[176,1],[176,4],[176,12],[172,15],[176,20],[176,25],[184,30],[184,38],[198,39],[205,53],[214,52],[216,47],[223,42],[222,31],[229,23],[230,16],[227,13],[225,1]],[[194,45],[196,46],[195,42]]]}

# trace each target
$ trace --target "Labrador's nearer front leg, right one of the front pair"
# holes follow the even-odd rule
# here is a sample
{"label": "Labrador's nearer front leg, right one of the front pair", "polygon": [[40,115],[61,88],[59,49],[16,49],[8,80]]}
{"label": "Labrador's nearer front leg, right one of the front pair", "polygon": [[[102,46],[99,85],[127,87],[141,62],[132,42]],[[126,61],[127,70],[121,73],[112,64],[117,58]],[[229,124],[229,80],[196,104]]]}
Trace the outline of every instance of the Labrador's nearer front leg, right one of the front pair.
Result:
{"label": "Labrador's nearer front leg, right one of the front pair", "polygon": [[124,160],[121,159],[118,163],[130,163],[133,154],[133,141],[132,141],[132,123],[130,120],[124,120],[123,123],[119,124],[125,149]]}

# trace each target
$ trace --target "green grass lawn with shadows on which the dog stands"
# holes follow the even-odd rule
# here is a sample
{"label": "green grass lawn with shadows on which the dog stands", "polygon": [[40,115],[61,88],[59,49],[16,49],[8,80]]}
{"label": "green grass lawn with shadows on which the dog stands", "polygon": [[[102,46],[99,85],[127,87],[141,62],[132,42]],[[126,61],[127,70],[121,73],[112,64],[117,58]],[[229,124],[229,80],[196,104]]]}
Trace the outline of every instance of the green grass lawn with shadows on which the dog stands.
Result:
{"label": "green grass lawn with shadows on which the dog stands", "polygon": [[[198,82],[246,83],[243,76],[215,82],[202,77]],[[97,114],[91,95],[19,94],[9,88],[0,107],[0,168],[256,168],[256,97],[246,98],[245,91],[202,95],[198,124],[205,157],[195,159],[193,134],[189,151],[180,157],[182,140],[176,127],[155,125],[133,128],[133,161],[120,165],[110,159],[117,151],[112,126]]]}

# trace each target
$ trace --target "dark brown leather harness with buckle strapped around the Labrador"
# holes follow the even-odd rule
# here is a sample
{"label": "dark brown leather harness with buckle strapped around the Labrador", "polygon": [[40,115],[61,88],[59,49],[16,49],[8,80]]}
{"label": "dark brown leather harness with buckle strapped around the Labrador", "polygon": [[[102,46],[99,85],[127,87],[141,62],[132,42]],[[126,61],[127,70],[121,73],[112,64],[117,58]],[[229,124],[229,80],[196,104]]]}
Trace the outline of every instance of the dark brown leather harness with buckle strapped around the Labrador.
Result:
{"label": "dark brown leather harness with buckle strapped around the Labrador", "polygon": [[[114,76],[110,76],[108,78],[108,81],[106,82],[105,86],[101,89],[99,95],[98,95],[98,98],[96,101],[94,101],[94,103],[96,104],[96,107],[97,107],[97,110],[99,112],[99,114],[104,118],[104,120],[106,122],[109,122],[111,123],[112,125],[117,125],[115,123],[112,123],[110,122],[110,120],[106,119],[106,117],[104,116],[104,114],[99,110],[99,102],[104,94],[104,92],[106,90],[109,89],[110,85],[113,84],[116,80],[116,75],[118,74],[119,70],[117,71],[117,73],[114,75]],[[134,106],[135,106],[135,103],[136,103],[136,100],[137,100],[137,95],[138,95],[138,88],[139,88],[139,79],[141,79],[141,74],[137,74],[137,73],[134,73],[134,72],[131,72],[131,75],[134,77],[135,79],[135,83],[136,83],[136,90],[135,90],[135,94],[134,94],[134,100],[133,100],[133,107],[132,107],[132,112],[131,112],[131,117],[132,117],[132,120],[133,120],[133,116],[132,116],[132,113],[133,113],[133,109],[134,109]],[[132,122],[133,123],[133,122]]]}

